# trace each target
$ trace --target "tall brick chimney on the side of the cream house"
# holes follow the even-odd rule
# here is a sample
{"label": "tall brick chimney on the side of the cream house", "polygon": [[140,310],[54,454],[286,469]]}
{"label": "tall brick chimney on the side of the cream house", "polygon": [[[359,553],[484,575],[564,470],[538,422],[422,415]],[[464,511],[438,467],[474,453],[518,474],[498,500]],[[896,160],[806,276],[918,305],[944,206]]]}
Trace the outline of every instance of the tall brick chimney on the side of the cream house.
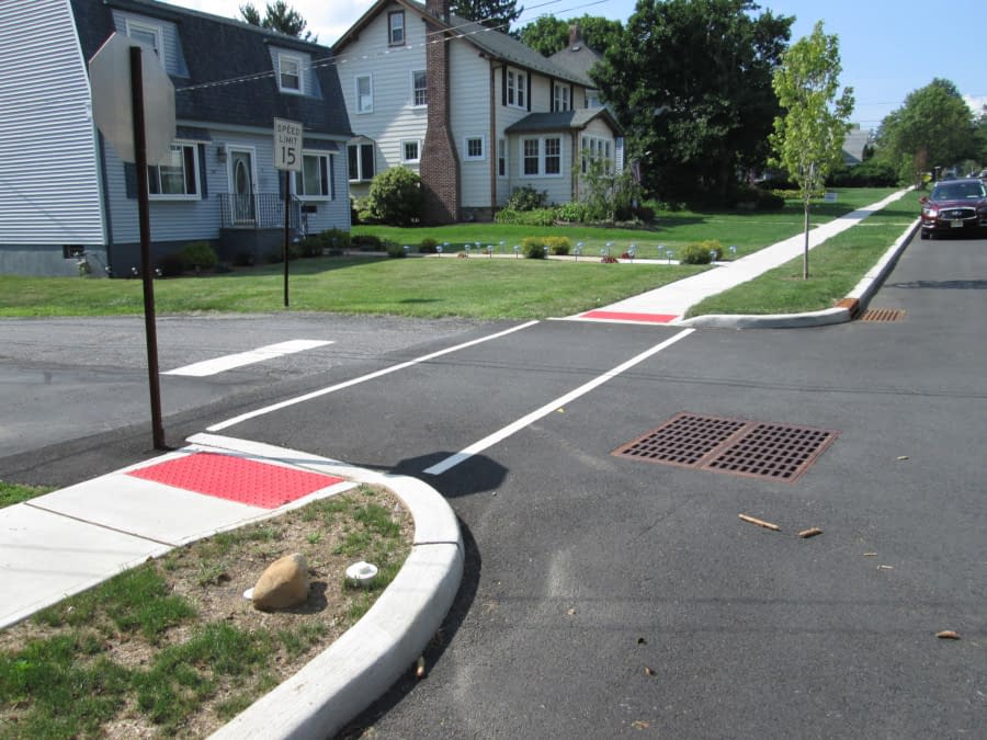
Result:
{"label": "tall brick chimney on the side of the cream house", "polygon": [[[449,22],[450,0],[427,0],[426,10]],[[450,123],[449,39],[426,19],[428,128],[421,152],[421,219],[427,225],[460,220],[460,158]]]}

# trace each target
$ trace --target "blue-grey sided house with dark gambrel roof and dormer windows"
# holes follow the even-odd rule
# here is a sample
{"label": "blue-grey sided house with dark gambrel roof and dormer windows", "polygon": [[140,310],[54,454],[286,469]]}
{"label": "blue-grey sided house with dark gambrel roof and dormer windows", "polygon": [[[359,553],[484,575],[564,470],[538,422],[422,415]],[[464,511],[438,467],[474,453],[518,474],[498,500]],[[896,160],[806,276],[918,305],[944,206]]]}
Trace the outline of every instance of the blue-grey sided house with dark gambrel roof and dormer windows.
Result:
{"label": "blue-grey sided house with dark gambrel roof and dormer windows", "polygon": [[349,229],[352,134],[328,47],[155,0],[0,0],[0,273],[139,269],[138,173],[95,128],[88,78],[114,33],[150,46],[175,90],[174,140],[145,173],[152,260],[200,240],[229,260],[281,247],[274,118],[303,124],[293,235]]}

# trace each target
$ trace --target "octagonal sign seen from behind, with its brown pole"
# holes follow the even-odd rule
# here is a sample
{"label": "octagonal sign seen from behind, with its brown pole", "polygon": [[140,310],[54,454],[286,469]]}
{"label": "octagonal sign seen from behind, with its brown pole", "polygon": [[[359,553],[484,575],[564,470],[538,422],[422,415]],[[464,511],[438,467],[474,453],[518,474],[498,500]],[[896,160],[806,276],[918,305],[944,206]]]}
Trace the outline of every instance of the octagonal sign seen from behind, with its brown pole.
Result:
{"label": "octagonal sign seen from behind, with its brown pole", "polygon": [[174,139],[174,87],[149,46],[113,34],[89,61],[92,117],[125,162],[137,168],[140,221],[140,269],[144,282],[144,326],[150,386],[151,435],[155,449],[166,449],[158,378],[155,284],[150,264],[150,214],[147,162],[160,161]]}

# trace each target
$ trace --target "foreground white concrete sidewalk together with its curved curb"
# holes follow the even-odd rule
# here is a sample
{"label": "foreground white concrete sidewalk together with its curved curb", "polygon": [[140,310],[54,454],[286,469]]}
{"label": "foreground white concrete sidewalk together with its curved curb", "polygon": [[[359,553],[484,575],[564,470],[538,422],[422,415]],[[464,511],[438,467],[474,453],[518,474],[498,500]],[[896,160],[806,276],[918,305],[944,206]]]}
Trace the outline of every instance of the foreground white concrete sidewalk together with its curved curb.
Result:
{"label": "foreground white concrete sidewalk together with its curved curb", "polygon": [[[7,627],[148,558],[225,530],[349,490],[385,486],[415,520],[411,553],[374,606],[297,674],[235,717],[218,738],[331,737],[407,671],[445,618],[463,576],[456,517],[430,486],[306,453],[212,434],[158,458],[0,510],[0,579]],[[222,457],[216,457],[222,456]],[[196,460],[202,458],[203,465]],[[295,480],[285,505],[204,494],[211,468],[250,487]],[[189,487],[161,482],[177,466]],[[186,477],[185,480],[189,480]],[[279,485],[280,499],[285,488]],[[272,718],[276,722],[272,724]]]}

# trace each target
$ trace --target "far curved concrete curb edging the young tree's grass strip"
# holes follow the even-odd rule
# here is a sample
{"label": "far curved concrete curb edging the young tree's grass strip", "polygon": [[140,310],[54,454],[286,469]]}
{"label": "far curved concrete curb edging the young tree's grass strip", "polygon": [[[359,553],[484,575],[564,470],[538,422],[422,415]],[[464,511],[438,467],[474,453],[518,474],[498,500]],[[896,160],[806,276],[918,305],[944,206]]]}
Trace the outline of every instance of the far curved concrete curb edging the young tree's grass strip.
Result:
{"label": "far curved concrete curb edging the young tree's grass strip", "polygon": [[916,219],[905,232],[898,237],[894,244],[877,260],[877,263],[853,287],[842,305],[833,308],[825,308],[819,311],[804,314],[773,314],[763,316],[759,314],[708,314],[691,319],[672,321],[672,326],[693,327],[706,329],[802,329],[806,327],[825,327],[833,323],[846,323],[856,317],[866,308],[867,303],[884,283],[895,263],[911,242],[918,230],[921,219]]}

